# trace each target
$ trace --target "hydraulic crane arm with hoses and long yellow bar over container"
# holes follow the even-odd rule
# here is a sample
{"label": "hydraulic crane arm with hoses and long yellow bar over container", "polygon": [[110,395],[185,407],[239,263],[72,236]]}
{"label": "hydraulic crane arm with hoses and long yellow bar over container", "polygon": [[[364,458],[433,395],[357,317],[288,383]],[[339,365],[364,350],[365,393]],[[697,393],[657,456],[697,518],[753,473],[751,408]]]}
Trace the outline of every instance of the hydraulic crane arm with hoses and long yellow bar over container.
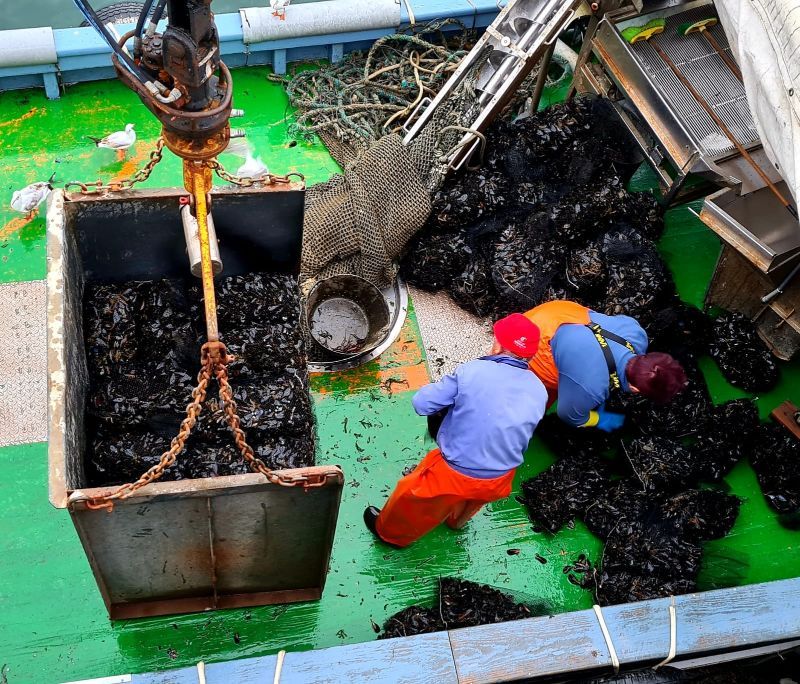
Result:
{"label": "hydraulic crane arm with hoses and long yellow bar over container", "polygon": [[[220,58],[211,0],[146,0],[133,31],[117,40],[87,0],[75,0],[112,49],[117,74],[161,122],[164,144],[183,160],[183,182],[197,221],[208,353],[219,360],[208,216],[213,159],[228,145],[233,82]],[[156,28],[164,10],[167,27]],[[125,45],[133,38],[133,54]]]}

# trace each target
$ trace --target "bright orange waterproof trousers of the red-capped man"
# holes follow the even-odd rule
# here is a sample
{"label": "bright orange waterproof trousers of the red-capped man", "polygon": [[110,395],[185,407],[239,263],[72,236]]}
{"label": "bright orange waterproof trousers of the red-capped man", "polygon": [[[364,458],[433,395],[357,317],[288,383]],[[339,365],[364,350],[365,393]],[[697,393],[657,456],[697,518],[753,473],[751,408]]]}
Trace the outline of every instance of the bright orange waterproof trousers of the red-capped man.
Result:
{"label": "bright orange waterproof trousers of the red-capped man", "polygon": [[507,497],[513,480],[513,470],[486,480],[462,475],[434,449],[397,483],[376,529],[397,546],[408,546],[442,523],[460,529],[485,504]]}

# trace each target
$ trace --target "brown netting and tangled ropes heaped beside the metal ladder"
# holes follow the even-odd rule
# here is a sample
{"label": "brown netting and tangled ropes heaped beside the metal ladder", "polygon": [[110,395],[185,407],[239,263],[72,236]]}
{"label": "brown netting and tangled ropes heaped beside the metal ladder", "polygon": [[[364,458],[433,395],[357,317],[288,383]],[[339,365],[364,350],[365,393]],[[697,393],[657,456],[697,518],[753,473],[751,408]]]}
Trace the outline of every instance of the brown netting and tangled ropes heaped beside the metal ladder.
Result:
{"label": "brown netting and tangled ropes heaped beside the metal ladder", "polygon": [[[313,81],[301,73],[289,84],[292,104],[299,109],[295,133],[319,134],[344,166],[341,175],[306,193],[300,277],[304,292],[319,279],[343,273],[378,287],[390,284],[401,251],[430,214],[431,193],[441,185],[446,160],[464,136],[462,122],[476,114],[473,86],[485,62],[476,60],[473,73],[414,141],[404,145],[397,131],[416,102],[423,94],[434,97],[464,54],[466,34],[442,36],[439,45],[420,37],[441,25],[417,35],[387,37],[366,58],[351,56],[353,64],[325,67],[314,72]],[[409,78],[413,87],[403,99]],[[315,99],[314,93],[325,98]],[[336,94],[335,103],[330,93]]]}

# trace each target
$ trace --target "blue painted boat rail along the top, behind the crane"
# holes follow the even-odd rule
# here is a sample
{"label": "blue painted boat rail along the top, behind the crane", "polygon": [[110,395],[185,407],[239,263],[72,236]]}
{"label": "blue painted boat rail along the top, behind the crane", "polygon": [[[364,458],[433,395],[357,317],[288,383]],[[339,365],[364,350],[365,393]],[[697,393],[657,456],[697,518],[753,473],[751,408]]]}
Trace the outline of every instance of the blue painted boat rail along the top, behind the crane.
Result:
{"label": "blue painted boat rail along the top, behind the crane", "polygon": [[[403,0],[399,26],[254,45],[244,44],[238,13],[219,14],[216,23],[220,53],[229,67],[272,65],[277,73],[285,73],[286,65],[290,62],[313,59],[338,61],[349,52],[367,49],[378,38],[394,33],[399,28],[407,28],[411,23],[405,4],[407,1],[412,2]],[[488,26],[499,11],[494,0],[413,0],[411,7],[417,25],[433,19],[452,18],[470,28]],[[131,24],[117,26],[120,34],[131,28]],[[48,97],[58,97],[60,85],[114,77],[111,50],[93,28],[56,29],[53,36],[58,63],[0,69],[0,92],[44,85]]]}

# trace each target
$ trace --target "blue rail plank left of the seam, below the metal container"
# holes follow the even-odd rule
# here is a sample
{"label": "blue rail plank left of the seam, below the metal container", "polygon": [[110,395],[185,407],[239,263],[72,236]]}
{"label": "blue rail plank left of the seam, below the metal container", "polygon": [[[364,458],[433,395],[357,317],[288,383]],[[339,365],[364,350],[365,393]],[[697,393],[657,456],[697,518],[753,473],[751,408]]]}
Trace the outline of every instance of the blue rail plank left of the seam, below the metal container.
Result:
{"label": "blue rail plank left of the seam, below the metal container", "polygon": [[[264,684],[275,673],[276,656],[207,663],[207,684]],[[196,684],[196,668],[136,675],[133,684]],[[457,684],[446,632],[287,653],[281,684]]]}

